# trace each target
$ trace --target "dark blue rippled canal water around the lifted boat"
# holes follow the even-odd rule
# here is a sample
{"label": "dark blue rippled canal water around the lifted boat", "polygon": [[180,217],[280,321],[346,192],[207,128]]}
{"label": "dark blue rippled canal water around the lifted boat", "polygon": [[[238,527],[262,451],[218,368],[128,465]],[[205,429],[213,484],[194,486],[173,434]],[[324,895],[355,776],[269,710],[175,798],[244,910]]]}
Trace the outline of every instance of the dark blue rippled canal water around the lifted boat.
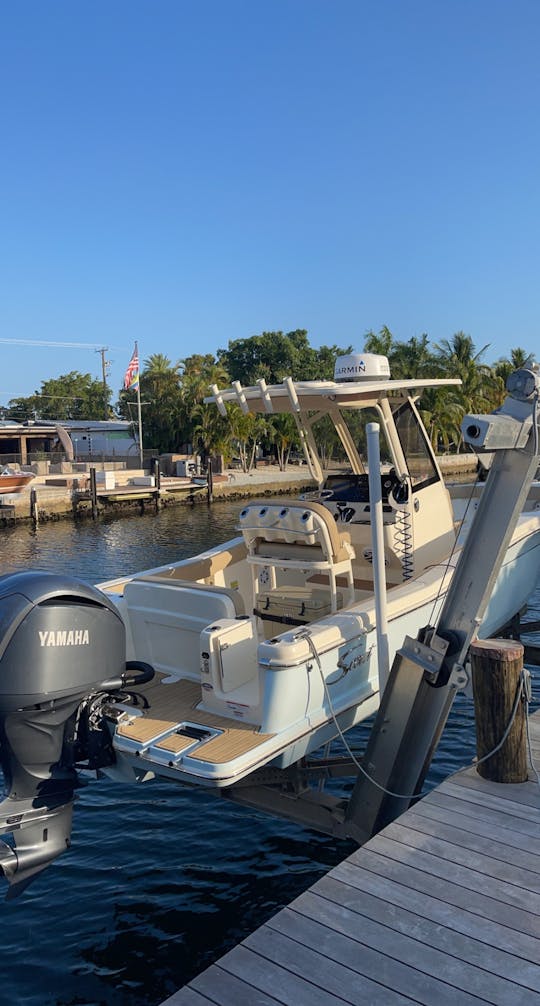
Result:
{"label": "dark blue rippled canal water around the lifted boat", "polygon": [[[0,569],[96,582],[231,536],[239,508],[0,529]],[[540,592],[531,615],[540,618]],[[352,745],[365,734],[349,734]],[[471,703],[459,697],[429,783],[474,751]],[[0,1006],[156,1006],[353,848],[173,784],[93,782],[69,852],[18,901],[0,902]]]}

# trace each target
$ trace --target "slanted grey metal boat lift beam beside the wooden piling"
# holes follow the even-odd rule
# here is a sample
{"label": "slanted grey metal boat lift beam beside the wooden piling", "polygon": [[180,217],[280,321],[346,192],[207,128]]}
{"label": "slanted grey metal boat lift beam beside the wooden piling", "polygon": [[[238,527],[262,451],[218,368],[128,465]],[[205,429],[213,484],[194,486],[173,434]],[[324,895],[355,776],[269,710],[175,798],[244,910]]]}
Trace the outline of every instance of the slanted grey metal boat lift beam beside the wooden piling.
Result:
{"label": "slanted grey metal boat lift beam beside the wooden piling", "polygon": [[538,468],[538,365],[511,374],[507,390],[497,413],[462,424],[464,440],[495,460],[436,626],[406,637],[395,655],[346,813],[346,832],[360,843],[419,795]]}

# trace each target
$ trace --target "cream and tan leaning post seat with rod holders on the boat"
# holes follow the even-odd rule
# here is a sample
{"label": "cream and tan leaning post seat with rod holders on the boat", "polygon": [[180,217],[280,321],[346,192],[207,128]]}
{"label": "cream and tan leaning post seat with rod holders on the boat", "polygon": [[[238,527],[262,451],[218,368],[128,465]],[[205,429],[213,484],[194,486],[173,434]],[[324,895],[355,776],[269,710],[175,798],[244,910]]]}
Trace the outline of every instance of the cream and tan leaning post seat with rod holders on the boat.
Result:
{"label": "cream and tan leaning post seat with rod holders on the boat", "polygon": [[[341,601],[336,578],[344,576],[346,604],[354,601],[352,560],[354,549],[347,533],[340,532],[330,511],[321,503],[287,500],[268,503],[255,500],[239,514],[239,529],[247,548],[247,562],[253,571],[253,594],[261,588],[276,590],[276,569],[301,570],[306,579],[313,573],[325,573],[330,585],[330,611],[336,612]],[[269,572],[269,582],[260,582],[260,573]],[[287,590],[282,582],[280,593]]]}

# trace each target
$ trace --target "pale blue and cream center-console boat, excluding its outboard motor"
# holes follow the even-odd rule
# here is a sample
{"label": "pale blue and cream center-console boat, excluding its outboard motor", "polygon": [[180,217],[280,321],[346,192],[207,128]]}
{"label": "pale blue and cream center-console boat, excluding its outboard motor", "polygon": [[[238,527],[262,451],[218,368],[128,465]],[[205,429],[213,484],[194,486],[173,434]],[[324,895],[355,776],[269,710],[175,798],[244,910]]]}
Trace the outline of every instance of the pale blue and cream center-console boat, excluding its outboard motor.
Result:
{"label": "pale blue and cream center-console boat, excluding its outboard motor", "polygon": [[[342,357],[335,376],[212,389],[207,400],[221,411],[234,401],[244,411],[292,414],[319,489],[300,500],[249,501],[236,538],[101,584],[124,621],[128,659],[156,671],[140,689],[144,705],[110,711],[116,764],[107,772],[228,787],[263,766],[291,766],[371,715],[403,638],[436,621],[460,525],[415,400],[424,388],[460,382],[392,380],[385,358],[369,354]],[[364,452],[374,418],[383,431],[384,638]],[[329,424],[347,462],[325,474],[318,443]],[[526,605],[539,549],[533,501],[481,636]]]}

